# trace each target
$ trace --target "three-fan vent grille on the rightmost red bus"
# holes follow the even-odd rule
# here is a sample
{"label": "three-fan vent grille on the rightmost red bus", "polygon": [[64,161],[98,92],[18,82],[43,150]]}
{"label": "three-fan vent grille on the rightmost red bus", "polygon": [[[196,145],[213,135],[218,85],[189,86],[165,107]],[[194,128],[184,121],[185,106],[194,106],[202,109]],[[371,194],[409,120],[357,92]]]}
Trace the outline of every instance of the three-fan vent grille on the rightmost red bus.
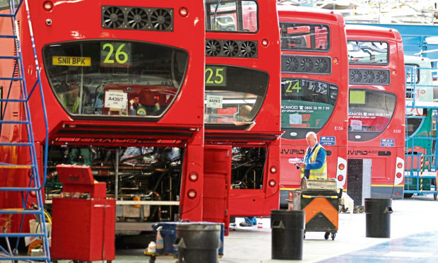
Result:
{"label": "three-fan vent grille on the rightmost red bus", "polygon": [[350,84],[389,85],[391,75],[388,69],[350,69]]}

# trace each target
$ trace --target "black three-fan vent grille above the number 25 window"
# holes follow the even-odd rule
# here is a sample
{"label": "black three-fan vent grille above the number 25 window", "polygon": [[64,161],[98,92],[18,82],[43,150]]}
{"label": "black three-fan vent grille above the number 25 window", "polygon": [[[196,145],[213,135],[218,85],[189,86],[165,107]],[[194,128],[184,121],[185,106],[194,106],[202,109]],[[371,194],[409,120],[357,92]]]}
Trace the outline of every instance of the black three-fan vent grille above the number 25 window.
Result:
{"label": "black three-fan vent grille above the number 25 window", "polygon": [[206,40],[207,57],[257,57],[257,41]]}

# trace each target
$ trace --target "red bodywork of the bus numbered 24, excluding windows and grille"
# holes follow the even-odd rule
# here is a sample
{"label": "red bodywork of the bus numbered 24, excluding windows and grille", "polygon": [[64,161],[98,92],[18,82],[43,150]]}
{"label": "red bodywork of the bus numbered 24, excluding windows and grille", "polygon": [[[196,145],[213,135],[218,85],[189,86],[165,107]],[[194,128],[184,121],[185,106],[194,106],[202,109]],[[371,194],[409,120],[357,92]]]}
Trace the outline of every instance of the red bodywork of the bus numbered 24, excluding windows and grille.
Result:
{"label": "red bodywork of the bus numbered 24, excluding windows and grille", "polygon": [[[305,73],[284,73],[282,78],[299,78],[324,81],[333,83],[338,86],[338,100],[334,107],[332,115],[326,124],[316,131],[316,129],[306,129],[297,127],[297,129],[305,129],[307,131],[315,131],[318,141],[321,137],[335,137],[334,145],[323,145],[326,148],[327,156],[327,172],[329,178],[336,178],[338,188],[346,187],[345,169],[338,170],[338,165],[346,163],[347,160],[347,130],[348,130],[348,57],[345,36],[345,24],[343,18],[338,13],[333,11],[317,10],[314,8],[290,8],[290,6],[280,6],[278,17],[280,23],[306,23],[306,24],[323,24],[329,25],[330,28],[330,48],[326,51],[312,50],[284,50],[282,54],[300,55],[300,56],[329,56],[331,57],[331,73],[330,74],[305,74]],[[323,28],[325,29],[325,28]],[[316,39],[316,42],[321,40]],[[334,61],[337,60],[337,63]],[[303,118],[304,121],[304,118]],[[295,165],[289,163],[290,158],[302,158],[308,147],[305,138],[302,139],[285,139],[285,134],[281,139],[281,176],[280,187],[282,189],[280,204],[285,204],[285,199],[288,199],[288,190],[297,189],[300,187],[301,169],[297,169]]]}

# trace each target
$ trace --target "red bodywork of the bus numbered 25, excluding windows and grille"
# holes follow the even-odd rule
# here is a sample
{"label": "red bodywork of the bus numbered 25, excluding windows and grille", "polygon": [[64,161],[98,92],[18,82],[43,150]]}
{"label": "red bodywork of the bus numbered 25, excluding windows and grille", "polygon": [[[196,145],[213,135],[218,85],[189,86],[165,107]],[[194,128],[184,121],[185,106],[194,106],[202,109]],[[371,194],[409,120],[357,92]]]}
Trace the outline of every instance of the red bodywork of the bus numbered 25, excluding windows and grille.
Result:
{"label": "red bodywork of the bus numbered 25, excluding windows and grille", "polygon": [[[256,58],[206,57],[206,65],[242,66],[269,74],[267,93],[255,124],[248,130],[206,129],[205,143],[233,147],[265,147],[264,182],[262,189],[230,189],[230,216],[268,216],[278,209],[280,151],[280,40],[276,2],[257,1],[259,30],[255,33],[206,32],[207,39],[257,41]],[[267,40],[268,45],[261,45]],[[270,168],[275,167],[275,173]],[[268,185],[271,182],[272,185]]]}

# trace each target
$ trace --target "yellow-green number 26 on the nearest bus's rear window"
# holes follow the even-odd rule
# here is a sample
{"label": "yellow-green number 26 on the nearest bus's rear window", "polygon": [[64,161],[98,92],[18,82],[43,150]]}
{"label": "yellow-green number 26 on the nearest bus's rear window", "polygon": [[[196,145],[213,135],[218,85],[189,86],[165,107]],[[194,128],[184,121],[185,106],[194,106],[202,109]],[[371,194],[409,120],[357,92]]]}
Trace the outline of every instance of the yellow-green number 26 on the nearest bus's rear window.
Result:
{"label": "yellow-green number 26 on the nearest bus's rear window", "polygon": [[130,66],[129,43],[122,42],[102,42],[100,49],[101,66]]}

